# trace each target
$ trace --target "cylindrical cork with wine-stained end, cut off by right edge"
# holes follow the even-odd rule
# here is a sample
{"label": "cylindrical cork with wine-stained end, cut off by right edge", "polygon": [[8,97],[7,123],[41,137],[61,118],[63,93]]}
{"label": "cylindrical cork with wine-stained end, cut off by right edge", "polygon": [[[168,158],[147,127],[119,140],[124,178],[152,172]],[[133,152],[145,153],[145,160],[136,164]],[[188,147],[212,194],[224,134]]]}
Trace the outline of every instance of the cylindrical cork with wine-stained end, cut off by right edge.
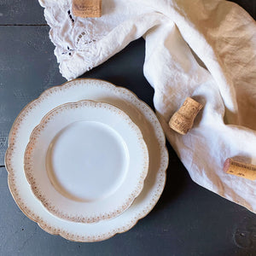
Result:
{"label": "cylindrical cork with wine-stained end, cut off by right edge", "polygon": [[256,166],[242,163],[232,158],[228,158],[224,162],[224,172],[230,173],[239,177],[245,177],[250,180],[256,179]]}

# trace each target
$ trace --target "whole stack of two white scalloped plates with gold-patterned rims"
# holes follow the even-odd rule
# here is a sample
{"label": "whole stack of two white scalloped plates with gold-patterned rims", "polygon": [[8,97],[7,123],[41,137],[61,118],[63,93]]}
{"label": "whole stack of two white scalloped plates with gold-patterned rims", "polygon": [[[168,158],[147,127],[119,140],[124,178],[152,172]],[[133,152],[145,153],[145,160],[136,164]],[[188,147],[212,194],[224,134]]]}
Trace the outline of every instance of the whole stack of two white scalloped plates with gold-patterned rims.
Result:
{"label": "whole stack of two white scalloped plates with gold-patterned rims", "polygon": [[10,131],[9,189],[28,218],[72,241],[130,230],[164,189],[168,154],[154,112],[97,79],[53,87]]}

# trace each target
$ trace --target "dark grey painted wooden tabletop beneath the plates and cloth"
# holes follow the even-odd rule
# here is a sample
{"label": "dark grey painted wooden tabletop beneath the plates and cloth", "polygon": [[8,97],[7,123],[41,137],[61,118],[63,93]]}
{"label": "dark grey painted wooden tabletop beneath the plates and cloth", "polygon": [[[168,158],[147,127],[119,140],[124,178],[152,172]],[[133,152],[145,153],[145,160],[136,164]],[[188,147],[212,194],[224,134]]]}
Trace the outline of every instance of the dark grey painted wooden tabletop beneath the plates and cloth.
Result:
{"label": "dark grey painted wooden tabletop beneath the plates and cloth", "polygon": [[[256,1],[239,3],[255,19]],[[6,18],[0,15],[0,25],[45,23],[37,1],[0,0],[0,13]],[[0,26],[0,166],[16,115],[65,81],[48,31],[48,26]],[[125,86],[153,107],[143,59],[139,39],[84,77]],[[154,210],[132,230],[97,243],[66,241],[41,230],[15,205],[0,167],[0,255],[256,255],[256,215],[193,183],[169,145],[168,150],[166,188]]]}

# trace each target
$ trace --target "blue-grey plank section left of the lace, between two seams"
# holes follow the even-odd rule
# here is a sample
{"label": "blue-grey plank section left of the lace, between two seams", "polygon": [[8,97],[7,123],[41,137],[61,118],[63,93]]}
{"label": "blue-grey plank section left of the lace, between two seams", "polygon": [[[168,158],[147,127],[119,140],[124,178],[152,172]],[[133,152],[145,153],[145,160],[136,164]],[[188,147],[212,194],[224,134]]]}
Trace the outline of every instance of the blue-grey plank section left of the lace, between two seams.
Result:
{"label": "blue-grey plank section left of the lace, between two seams", "polygon": [[65,82],[48,32],[48,26],[0,26],[0,166],[20,110],[45,89]]}

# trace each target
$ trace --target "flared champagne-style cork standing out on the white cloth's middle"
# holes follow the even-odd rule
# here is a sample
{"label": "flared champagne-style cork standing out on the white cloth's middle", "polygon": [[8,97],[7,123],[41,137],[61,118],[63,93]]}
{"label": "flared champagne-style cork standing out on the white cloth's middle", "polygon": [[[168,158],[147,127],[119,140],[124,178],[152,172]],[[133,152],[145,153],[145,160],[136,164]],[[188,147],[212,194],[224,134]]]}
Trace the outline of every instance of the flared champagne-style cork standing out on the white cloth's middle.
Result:
{"label": "flared champagne-style cork standing out on the white cloth's middle", "polygon": [[183,106],[172,115],[169,126],[180,134],[186,134],[193,126],[197,113],[203,108],[201,103],[192,98],[186,98]]}

